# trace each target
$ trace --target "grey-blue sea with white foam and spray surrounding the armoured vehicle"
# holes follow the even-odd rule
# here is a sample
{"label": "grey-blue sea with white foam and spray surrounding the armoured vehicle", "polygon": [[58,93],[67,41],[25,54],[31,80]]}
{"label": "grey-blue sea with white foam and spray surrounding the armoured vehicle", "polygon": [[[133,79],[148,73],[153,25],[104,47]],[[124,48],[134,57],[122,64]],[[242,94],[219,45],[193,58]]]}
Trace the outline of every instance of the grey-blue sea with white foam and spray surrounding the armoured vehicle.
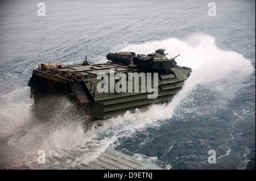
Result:
{"label": "grey-blue sea with white foam and spray surrounding the armoured vehicle", "polygon": [[[35,164],[38,150],[83,153],[65,167],[51,163],[68,169],[108,148],[162,169],[255,169],[255,1],[43,2],[46,16],[35,1],[0,2],[1,169],[48,169]],[[216,16],[208,14],[210,2]],[[34,117],[27,83],[39,63],[78,63],[86,52],[103,63],[108,52],[158,48],[169,58],[180,54],[177,64],[193,70],[171,102],[87,130],[65,98],[47,123]],[[208,162],[209,150],[216,163]]]}

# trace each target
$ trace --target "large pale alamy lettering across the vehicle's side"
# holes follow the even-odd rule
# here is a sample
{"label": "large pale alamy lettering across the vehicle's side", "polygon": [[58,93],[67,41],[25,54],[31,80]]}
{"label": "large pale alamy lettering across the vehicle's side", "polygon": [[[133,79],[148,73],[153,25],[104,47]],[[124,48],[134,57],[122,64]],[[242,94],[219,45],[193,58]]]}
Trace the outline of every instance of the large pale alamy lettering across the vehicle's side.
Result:
{"label": "large pale alamy lettering across the vehicle's side", "polygon": [[148,92],[148,99],[158,97],[158,73],[117,73],[110,69],[110,74],[99,73],[97,79],[101,81],[97,84],[97,91],[102,92]]}

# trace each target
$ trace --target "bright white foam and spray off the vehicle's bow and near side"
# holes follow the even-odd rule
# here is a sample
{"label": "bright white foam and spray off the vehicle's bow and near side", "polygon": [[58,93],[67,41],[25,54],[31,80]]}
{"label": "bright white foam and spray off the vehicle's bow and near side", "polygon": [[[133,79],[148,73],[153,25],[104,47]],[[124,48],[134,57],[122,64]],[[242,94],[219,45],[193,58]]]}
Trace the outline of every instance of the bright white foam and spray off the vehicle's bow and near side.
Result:
{"label": "bright white foam and spray off the vehicle's bow and near side", "polygon": [[[96,144],[98,147],[93,149],[95,157],[108,146],[118,145],[122,138],[133,137],[136,132],[143,133],[148,127],[160,127],[161,120],[171,119],[176,106],[182,103],[197,85],[214,85],[210,89],[218,91],[222,96],[228,95],[229,99],[232,99],[232,92],[236,92],[239,88],[237,83],[254,71],[249,60],[236,52],[217,48],[214,37],[208,35],[196,34],[183,41],[170,38],[144,44],[130,44],[121,51],[146,54],[158,48],[166,49],[166,53],[169,53],[168,57],[180,53],[181,56],[176,58],[177,64],[191,67],[193,70],[191,77],[170,104],[153,105],[145,112],[140,110],[136,110],[135,113],[126,112],[122,116],[105,120],[102,122],[102,127],[84,133],[82,144],[84,146],[88,146],[88,143]],[[229,89],[226,89],[227,86]],[[228,92],[223,92],[224,90]],[[88,155],[92,157],[89,149],[83,159],[89,158]]]}

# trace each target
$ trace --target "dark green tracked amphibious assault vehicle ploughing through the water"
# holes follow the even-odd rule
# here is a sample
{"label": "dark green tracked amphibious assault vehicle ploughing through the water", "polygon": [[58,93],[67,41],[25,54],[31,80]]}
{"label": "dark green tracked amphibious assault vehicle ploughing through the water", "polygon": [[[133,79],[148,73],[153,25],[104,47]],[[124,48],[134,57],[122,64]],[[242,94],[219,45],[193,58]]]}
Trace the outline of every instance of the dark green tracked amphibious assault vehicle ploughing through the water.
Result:
{"label": "dark green tracked amphibious assault vehicle ploughing through the water", "polygon": [[47,96],[68,96],[86,115],[100,120],[171,100],[192,70],[176,65],[177,56],[167,58],[164,50],[108,53],[105,64],[41,64],[28,82],[31,98],[35,107],[47,107]]}

